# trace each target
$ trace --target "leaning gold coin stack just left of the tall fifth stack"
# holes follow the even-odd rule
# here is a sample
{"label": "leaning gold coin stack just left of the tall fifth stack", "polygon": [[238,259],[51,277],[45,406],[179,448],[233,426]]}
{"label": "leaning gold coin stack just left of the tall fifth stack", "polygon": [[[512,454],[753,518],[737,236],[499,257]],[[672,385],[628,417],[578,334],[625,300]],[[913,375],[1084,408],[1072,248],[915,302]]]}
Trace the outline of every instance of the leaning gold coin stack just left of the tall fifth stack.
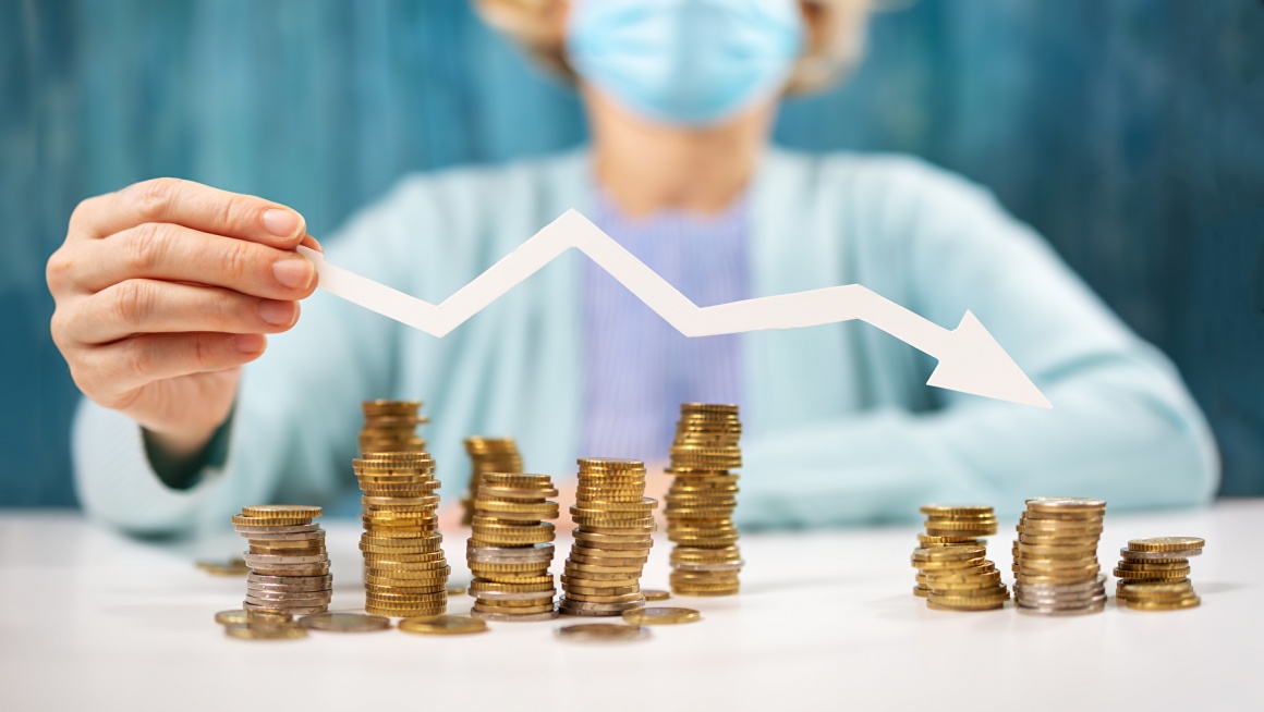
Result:
{"label": "leaning gold coin stack just left of the tall fifth stack", "polygon": [[618,616],[645,605],[641,571],[653,545],[657,505],[645,496],[643,462],[580,458],[561,612]]}

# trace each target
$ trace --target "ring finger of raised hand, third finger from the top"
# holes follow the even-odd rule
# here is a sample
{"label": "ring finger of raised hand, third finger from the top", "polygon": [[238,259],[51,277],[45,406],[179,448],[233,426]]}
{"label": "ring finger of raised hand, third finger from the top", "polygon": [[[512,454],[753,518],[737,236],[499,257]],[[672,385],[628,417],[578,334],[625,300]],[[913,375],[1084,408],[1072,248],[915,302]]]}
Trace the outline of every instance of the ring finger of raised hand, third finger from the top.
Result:
{"label": "ring finger of raised hand, third finger from the top", "polygon": [[78,299],[57,319],[56,329],[73,346],[110,343],[138,333],[278,333],[298,321],[298,303],[214,287],[129,279]]}

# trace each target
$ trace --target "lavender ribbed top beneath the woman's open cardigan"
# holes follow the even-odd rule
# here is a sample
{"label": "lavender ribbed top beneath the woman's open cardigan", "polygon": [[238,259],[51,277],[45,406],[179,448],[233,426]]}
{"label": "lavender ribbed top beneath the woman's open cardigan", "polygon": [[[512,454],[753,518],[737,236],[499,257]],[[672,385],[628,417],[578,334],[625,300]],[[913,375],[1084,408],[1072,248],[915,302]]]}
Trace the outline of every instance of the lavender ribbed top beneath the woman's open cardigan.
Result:
{"label": "lavender ribbed top beneath the woman's open cardigan", "polygon": [[[623,215],[598,191],[593,222],[699,307],[750,298],[747,201],[717,215]],[[737,335],[688,338],[602,268],[584,266],[583,457],[665,462],[680,404],[742,403]]]}

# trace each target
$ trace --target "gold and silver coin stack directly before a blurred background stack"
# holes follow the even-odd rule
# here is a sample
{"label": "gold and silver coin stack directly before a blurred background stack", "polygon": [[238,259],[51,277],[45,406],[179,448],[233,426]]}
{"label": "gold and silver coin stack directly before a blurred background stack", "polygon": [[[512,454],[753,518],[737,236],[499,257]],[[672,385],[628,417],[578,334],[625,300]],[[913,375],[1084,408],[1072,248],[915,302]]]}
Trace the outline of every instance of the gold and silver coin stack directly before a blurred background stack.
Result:
{"label": "gold and silver coin stack directly before a blurred background stack", "polygon": [[474,617],[540,621],[556,617],[552,564],[557,496],[547,475],[484,472],[474,497],[473,535],[465,549]]}

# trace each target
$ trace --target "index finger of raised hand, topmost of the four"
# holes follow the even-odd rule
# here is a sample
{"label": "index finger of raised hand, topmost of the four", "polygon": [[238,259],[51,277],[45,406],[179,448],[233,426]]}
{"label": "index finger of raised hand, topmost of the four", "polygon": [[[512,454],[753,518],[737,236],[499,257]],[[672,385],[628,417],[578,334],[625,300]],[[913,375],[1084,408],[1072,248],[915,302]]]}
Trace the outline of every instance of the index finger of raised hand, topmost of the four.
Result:
{"label": "index finger of raised hand, topmost of the four", "polygon": [[286,206],[177,178],[154,178],[83,201],[71,216],[71,231],[101,239],[147,222],[173,222],[283,250],[306,235],[302,216]]}

